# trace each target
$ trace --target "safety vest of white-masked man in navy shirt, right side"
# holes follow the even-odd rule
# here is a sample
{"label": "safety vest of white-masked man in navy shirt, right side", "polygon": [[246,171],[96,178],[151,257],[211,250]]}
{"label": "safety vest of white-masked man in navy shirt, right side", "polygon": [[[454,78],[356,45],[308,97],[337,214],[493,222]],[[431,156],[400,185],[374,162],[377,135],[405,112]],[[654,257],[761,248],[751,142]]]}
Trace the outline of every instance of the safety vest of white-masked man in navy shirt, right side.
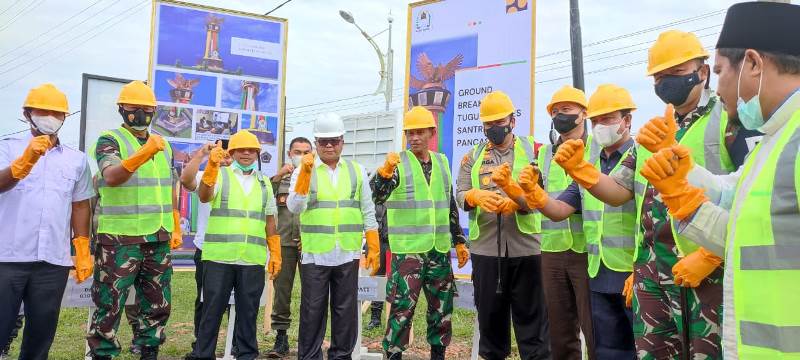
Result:
{"label": "safety vest of white-masked man in navy shirt, right side", "polygon": [[[632,148],[631,148],[632,149]],[[628,149],[621,159],[630,153]],[[589,150],[589,163],[598,170],[600,152],[603,147],[592,141]],[[622,164],[617,162],[611,173]],[[589,276],[594,278],[600,270],[600,262],[611,270],[633,271],[633,253],[636,239],[636,202],[633,199],[622,206],[611,206],[598,200],[586,189],[581,188],[581,215],[583,233],[586,237],[586,252],[589,254]]]}

